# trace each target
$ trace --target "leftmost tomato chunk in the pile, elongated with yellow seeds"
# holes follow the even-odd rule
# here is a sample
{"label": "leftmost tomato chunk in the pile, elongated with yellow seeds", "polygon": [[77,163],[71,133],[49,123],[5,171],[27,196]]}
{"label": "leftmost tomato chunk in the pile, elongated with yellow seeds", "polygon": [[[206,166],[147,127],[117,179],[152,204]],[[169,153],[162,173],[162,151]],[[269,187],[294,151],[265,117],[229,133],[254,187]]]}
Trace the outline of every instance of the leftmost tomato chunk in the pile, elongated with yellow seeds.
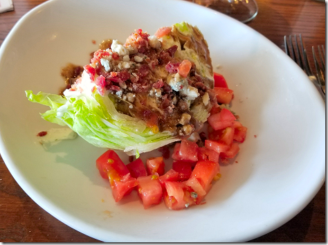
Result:
{"label": "leftmost tomato chunk in the pile, elongated with yellow seeds", "polygon": [[127,166],[113,150],[104,152],[95,163],[102,178],[109,179],[115,201],[120,201],[138,185],[138,181],[131,177]]}

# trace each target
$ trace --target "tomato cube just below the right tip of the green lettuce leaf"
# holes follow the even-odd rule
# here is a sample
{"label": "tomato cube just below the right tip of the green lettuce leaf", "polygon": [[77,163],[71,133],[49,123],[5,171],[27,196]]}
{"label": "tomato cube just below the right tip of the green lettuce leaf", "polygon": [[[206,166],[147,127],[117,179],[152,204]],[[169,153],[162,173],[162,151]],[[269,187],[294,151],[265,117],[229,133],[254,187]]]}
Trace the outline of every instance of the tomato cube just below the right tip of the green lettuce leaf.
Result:
{"label": "tomato cube just below the right tip of the green lettuce leaf", "polygon": [[173,149],[172,158],[176,161],[196,162],[197,158],[197,143],[190,140],[181,140],[181,143],[176,143]]}

